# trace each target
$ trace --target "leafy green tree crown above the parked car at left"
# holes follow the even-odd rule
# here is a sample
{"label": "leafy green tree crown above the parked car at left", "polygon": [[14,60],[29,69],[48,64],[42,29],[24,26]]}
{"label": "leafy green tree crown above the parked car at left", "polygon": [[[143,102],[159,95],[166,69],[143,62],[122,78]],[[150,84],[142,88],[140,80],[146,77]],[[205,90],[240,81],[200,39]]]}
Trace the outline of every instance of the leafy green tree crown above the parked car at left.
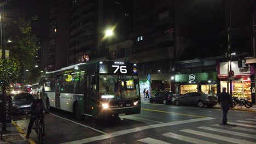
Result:
{"label": "leafy green tree crown above the parked car at left", "polygon": [[[40,76],[40,70],[35,68],[34,62],[37,50],[40,49],[38,38],[32,33],[32,21],[35,19],[38,19],[38,17],[31,19],[20,17],[10,25],[7,25],[6,28],[8,30],[7,37],[13,41],[6,45],[6,49],[10,50],[10,58],[20,63],[20,72],[23,75],[20,79],[23,78],[28,83],[34,82]],[[29,70],[30,73],[26,74],[26,70]],[[32,71],[33,74],[31,74]]]}

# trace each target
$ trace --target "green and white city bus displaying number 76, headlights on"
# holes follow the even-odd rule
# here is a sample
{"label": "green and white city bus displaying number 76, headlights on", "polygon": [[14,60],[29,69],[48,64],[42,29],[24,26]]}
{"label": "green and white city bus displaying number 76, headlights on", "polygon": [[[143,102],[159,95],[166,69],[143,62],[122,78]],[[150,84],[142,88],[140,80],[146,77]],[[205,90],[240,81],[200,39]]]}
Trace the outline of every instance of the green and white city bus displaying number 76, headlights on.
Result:
{"label": "green and white city bus displaying number 76, headlights on", "polygon": [[40,97],[46,109],[92,118],[141,112],[136,64],[127,62],[80,63],[47,72],[40,80]]}

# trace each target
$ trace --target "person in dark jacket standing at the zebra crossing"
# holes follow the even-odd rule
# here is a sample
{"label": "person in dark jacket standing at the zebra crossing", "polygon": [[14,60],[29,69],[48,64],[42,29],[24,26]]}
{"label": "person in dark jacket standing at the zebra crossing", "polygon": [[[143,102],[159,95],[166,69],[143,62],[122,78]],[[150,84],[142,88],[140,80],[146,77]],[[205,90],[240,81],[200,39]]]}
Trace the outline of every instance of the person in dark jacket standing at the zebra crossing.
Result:
{"label": "person in dark jacket standing at the zebra crossing", "polygon": [[226,116],[228,115],[229,107],[231,104],[231,97],[229,93],[226,93],[226,88],[222,88],[222,93],[218,95],[218,103],[220,104],[220,108],[222,109],[223,112],[223,118],[222,118],[222,123],[220,124],[227,124],[228,118]]}

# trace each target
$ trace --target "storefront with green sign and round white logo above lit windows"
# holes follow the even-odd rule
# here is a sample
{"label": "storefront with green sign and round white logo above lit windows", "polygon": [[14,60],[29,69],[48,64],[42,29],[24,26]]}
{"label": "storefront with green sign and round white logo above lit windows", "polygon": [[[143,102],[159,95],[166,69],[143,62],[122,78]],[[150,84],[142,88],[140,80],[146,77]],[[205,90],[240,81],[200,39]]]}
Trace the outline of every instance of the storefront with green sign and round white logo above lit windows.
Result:
{"label": "storefront with green sign and round white logo above lit windows", "polygon": [[181,95],[188,92],[203,92],[216,95],[217,73],[176,74],[175,92]]}

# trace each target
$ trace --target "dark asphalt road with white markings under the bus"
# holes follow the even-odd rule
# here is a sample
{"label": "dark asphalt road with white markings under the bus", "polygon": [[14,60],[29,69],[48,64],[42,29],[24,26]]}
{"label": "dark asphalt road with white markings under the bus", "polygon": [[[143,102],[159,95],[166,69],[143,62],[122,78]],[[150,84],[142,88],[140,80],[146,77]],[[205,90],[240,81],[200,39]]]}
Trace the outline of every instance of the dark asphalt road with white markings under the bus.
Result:
{"label": "dark asphalt road with white markings under the bus", "polygon": [[[27,131],[28,116],[14,121]],[[256,143],[256,113],[229,111],[219,125],[219,109],[142,103],[141,113],[117,121],[74,121],[71,113],[51,110],[45,115],[44,143]],[[32,130],[31,139],[37,142]]]}

